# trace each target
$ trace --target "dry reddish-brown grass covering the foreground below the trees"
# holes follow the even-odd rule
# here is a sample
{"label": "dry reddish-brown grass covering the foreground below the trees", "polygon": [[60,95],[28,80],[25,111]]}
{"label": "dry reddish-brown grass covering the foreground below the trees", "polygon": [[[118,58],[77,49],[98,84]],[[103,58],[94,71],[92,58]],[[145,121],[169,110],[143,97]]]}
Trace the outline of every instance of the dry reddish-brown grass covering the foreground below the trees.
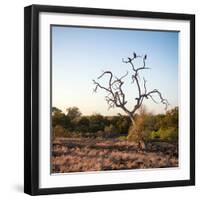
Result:
{"label": "dry reddish-brown grass covering the foreground below the trees", "polygon": [[177,144],[151,142],[146,150],[117,139],[57,138],[52,173],[164,168],[178,166]]}

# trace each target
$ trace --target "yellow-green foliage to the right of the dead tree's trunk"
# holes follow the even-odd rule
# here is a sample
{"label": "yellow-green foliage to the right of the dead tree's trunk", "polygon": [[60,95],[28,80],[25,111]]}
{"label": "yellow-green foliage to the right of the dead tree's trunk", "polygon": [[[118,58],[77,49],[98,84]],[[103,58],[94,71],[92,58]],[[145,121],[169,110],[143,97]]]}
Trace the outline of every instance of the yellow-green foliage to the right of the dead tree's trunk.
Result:
{"label": "yellow-green foliage to the right of the dead tree's trunk", "polygon": [[178,140],[178,108],[165,115],[151,115],[144,110],[135,117],[135,124],[129,129],[128,140],[148,141],[152,139]]}

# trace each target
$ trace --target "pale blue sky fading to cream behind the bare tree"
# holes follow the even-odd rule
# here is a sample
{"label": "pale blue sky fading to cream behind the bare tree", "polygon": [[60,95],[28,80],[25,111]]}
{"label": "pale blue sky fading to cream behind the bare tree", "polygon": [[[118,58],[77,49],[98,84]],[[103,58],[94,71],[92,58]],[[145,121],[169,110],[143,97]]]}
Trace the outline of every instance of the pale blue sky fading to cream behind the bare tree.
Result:
{"label": "pale blue sky fading to cream behind the bare tree", "polygon": [[[63,111],[77,106],[84,115],[124,114],[120,109],[108,110],[105,92],[93,93],[93,79],[102,71],[111,70],[116,76],[131,72],[122,58],[132,53],[147,54],[150,70],[141,75],[147,80],[147,89],[159,89],[170,107],[178,105],[178,32],[103,29],[52,26],[52,104]],[[130,75],[130,73],[129,73]],[[106,84],[103,79],[102,84]],[[130,76],[124,89],[128,107],[137,96]],[[164,105],[146,100],[153,113],[164,112]]]}

